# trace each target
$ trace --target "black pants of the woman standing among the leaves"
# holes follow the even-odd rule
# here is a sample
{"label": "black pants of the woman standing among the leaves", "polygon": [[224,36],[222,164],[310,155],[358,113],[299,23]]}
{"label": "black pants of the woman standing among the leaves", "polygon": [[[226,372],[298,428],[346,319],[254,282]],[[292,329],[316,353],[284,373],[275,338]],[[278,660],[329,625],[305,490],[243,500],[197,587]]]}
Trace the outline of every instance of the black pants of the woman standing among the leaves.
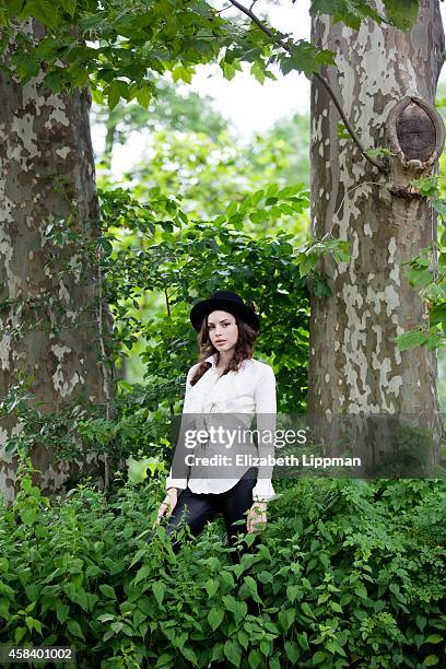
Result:
{"label": "black pants of the woman standing among the leaves", "polygon": [[[173,538],[174,552],[180,549],[180,543],[175,539],[175,532],[179,527],[188,525],[191,535],[197,537],[206,524],[213,520],[219,514],[223,515],[228,543],[234,545],[237,535],[244,535],[247,531],[246,512],[253,505],[253,488],[257,483],[256,472],[257,468],[248,469],[234,488],[223,493],[197,494],[188,488],[183,490],[178,494],[176,506],[166,526],[167,535]],[[245,523],[234,525],[237,520],[245,520]],[[152,540],[152,535],[151,532],[148,536],[149,542]],[[260,537],[256,536],[249,548],[246,543],[240,543],[237,551],[231,552],[233,563],[239,562],[243,552],[253,550],[259,542]]]}

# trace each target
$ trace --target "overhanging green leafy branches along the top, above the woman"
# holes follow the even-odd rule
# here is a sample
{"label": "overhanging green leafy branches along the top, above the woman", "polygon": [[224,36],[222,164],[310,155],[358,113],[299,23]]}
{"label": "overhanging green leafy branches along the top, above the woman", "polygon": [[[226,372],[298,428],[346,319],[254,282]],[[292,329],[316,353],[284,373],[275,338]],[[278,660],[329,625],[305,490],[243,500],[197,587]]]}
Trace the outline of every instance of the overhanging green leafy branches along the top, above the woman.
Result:
{"label": "overhanging green leafy branches along the top, above the woman", "polygon": [[[365,0],[315,0],[310,12],[331,14],[356,30],[368,19],[402,30],[413,24],[416,0],[386,0],[385,5],[386,16]],[[17,0],[0,9],[0,25],[3,50],[8,36],[15,38],[9,67],[23,82],[42,68],[54,91],[90,84],[95,101],[107,101],[110,109],[120,99],[146,106],[163,74],[190,83],[196,67],[209,62],[218,61],[226,79],[242,62],[249,63],[260,82],[275,78],[274,64],[283,74],[296,70],[310,78],[322,64],[333,63],[330,50],[293,42],[267,21],[261,30],[240,16],[225,17],[203,0]],[[23,31],[30,17],[46,28],[38,44]]]}

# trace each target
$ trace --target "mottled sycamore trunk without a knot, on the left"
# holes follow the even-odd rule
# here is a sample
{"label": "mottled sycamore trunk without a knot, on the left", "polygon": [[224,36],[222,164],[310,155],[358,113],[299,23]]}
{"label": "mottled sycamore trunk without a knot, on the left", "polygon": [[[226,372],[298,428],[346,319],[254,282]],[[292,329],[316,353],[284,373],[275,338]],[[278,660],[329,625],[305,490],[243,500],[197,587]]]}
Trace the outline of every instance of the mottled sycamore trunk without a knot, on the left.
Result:
{"label": "mottled sycamore trunk without a knot, on the left", "polygon": [[[24,30],[43,36],[36,22]],[[56,94],[43,79],[40,71],[21,85],[0,72],[0,398],[24,372],[34,375],[30,392],[40,409],[57,411],[109,399],[110,371],[99,356],[110,318],[98,308],[97,267],[85,262],[80,240],[60,246],[45,235],[51,223],[71,224],[85,240],[97,235],[90,95]],[[9,500],[16,462],[4,442],[22,429],[13,415],[1,420],[0,490]],[[104,472],[97,454],[52,463],[54,453],[33,444],[31,455],[46,492],[75,480],[80,467]]]}

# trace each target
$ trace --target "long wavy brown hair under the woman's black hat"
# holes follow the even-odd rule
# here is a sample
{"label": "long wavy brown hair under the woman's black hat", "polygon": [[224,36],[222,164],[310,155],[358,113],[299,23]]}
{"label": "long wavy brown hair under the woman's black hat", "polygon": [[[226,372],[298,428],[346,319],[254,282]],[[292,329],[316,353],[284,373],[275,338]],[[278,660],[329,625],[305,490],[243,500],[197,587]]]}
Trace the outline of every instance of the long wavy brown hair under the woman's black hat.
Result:
{"label": "long wavy brown hair under the woman's black hat", "polygon": [[[256,308],[256,304],[254,302],[251,302],[248,306],[253,310]],[[242,318],[239,318],[235,314],[233,314],[233,316],[238,328],[238,339],[237,343],[235,344],[234,355],[227,367],[224,369],[222,376],[224,374],[227,374],[228,372],[238,372],[240,363],[244,360],[253,357],[254,344],[258,334],[257,331],[251,328],[247,322],[242,320]],[[206,362],[207,357],[216,353],[216,364],[219,364],[220,361],[220,352],[211,343],[211,339],[209,337],[208,315],[203,318],[203,321],[201,324],[201,328],[197,336],[197,343],[200,349],[200,356],[197,361],[197,371],[190,380],[191,386],[195,386],[196,383],[202,377],[202,375],[208,372],[209,367],[212,366],[210,362]]]}

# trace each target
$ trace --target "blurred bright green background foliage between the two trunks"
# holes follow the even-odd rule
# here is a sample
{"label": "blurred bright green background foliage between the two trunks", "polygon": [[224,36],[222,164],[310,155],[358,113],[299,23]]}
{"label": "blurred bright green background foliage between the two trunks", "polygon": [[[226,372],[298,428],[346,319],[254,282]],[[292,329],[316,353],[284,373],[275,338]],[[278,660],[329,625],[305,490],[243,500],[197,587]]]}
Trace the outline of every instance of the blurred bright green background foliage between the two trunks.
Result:
{"label": "blurred bright green background foliage between the two trunks", "polygon": [[[113,120],[111,128],[118,124],[113,130],[114,137],[122,143],[131,132],[139,133],[143,126],[146,115],[138,114],[139,120],[133,120],[136,109],[138,107],[129,105],[128,120]],[[204,110],[204,118],[208,111]],[[121,113],[127,116],[127,111]],[[157,129],[138,134],[142,149],[124,176],[111,179],[107,172],[102,171],[99,184],[107,188],[117,185],[130,187],[140,199],[149,199],[150,189],[159,187],[166,197],[171,193],[181,196],[185,212],[201,219],[219,215],[232,200],[240,201],[247,193],[267,189],[270,184],[281,187],[302,185],[301,190],[308,186],[308,116],[295,115],[280,121],[244,144],[226,127],[213,137],[199,127],[195,129],[196,126],[188,129],[186,125],[184,129],[174,130],[163,127],[156,115],[152,117],[152,124]],[[116,169],[119,164],[111,161],[111,140],[107,141],[99,166],[109,167],[111,164]],[[296,208],[293,216],[280,218],[265,216],[259,211],[259,216],[245,222],[245,231],[256,238],[274,234],[278,228],[302,236],[307,227],[306,208]]]}

